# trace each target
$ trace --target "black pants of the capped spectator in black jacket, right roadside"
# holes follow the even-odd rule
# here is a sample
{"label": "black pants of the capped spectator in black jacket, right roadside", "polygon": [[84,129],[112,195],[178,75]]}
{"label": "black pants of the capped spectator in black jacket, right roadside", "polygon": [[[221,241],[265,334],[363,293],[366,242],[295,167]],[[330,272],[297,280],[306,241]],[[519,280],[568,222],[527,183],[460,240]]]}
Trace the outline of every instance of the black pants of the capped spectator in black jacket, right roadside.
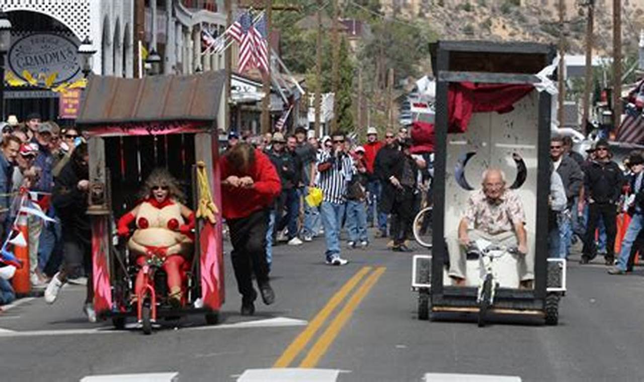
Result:
{"label": "black pants of the capped spectator in black jacket, right roadside", "polygon": [[586,226],[586,239],[583,242],[583,257],[592,260],[597,255],[595,246],[595,230],[601,217],[606,226],[606,260],[615,259],[615,235],[617,234],[616,206],[612,203],[592,203],[589,205],[588,224]]}

